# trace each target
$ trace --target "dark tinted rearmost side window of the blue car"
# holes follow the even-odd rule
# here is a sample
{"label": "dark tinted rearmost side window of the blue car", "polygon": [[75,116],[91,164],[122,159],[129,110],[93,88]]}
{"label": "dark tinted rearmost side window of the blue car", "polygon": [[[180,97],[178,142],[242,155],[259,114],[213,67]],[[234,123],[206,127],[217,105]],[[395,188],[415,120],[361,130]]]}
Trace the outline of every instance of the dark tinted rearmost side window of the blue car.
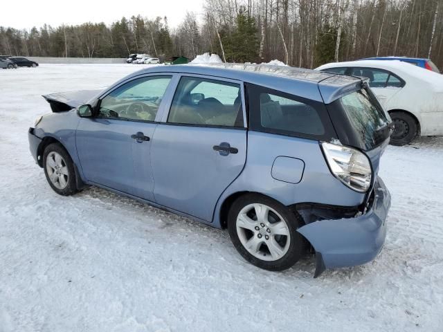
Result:
{"label": "dark tinted rearmost side window of the blue car", "polygon": [[323,103],[253,84],[247,87],[252,130],[314,139],[334,136]]}

